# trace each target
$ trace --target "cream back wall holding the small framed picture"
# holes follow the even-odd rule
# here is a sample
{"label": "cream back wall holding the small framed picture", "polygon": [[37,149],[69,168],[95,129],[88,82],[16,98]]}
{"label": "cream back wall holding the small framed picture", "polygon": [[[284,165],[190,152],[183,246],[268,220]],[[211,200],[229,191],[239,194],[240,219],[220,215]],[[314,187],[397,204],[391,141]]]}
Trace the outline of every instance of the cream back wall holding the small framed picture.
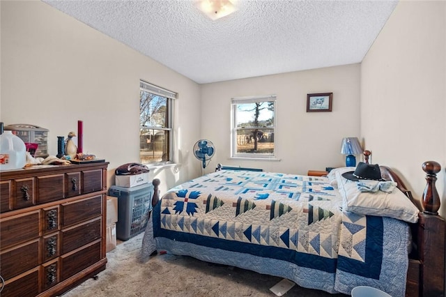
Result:
{"label": "cream back wall holding the small framed picture", "polygon": [[[332,112],[307,112],[307,93],[328,92],[333,92]],[[230,160],[231,98],[269,94],[277,95],[275,145],[281,161]],[[359,64],[203,84],[201,136],[217,148],[211,166],[295,174],[343,166],[341,139],[360,136],[359,96]]]}

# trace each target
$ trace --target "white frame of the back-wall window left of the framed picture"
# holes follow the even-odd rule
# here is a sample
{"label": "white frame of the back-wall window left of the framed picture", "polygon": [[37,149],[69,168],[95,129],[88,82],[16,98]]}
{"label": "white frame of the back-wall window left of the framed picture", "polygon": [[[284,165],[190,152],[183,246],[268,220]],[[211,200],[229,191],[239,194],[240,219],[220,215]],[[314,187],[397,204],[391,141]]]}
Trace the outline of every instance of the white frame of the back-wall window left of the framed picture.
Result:
{"label": "white frame of the back-wall window left of the framed picture", "polygon": [[[268,130],[272,130],[274,134],[274,151],[273,153],[237,153],[237,131],[238,130],[252,130],[253,127],[238,128],[237,127],[237,106],[239,104],[248,104],[256,102],[274,102],[274,110],[272,115],[272,125],[268,126]],[[265,127],[254,127],[265,129]],[[231,158],[248,159],[248,160],[278,160],[277,159],[277,96],[251,96],[251,97],[234,97],[231,98]]]}

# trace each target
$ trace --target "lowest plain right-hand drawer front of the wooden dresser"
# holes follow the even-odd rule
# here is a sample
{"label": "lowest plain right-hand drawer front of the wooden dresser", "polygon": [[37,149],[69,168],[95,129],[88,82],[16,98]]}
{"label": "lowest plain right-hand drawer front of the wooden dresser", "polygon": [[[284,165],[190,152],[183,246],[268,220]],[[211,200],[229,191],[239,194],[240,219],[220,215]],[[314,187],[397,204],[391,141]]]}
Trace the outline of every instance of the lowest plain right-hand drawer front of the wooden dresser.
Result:
{"label": "lowest plain right-hand drawer front of the wooden dresser", "polygon": [[100,241],[61,257],[61,281],[100,261]]}

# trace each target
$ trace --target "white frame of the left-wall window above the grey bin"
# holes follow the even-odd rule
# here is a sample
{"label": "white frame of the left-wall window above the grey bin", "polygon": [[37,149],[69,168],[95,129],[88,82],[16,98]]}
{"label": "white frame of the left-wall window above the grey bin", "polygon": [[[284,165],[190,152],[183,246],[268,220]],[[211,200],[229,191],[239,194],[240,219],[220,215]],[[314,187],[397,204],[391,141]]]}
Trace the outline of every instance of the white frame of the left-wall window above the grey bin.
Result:
{"label": "white frame of the left-wall window above the grey bin", "polygon": [[[166,102],[166,109],[167,109],[167,119],[164,123],[165,127],[158,127],[158,126],[151,126],[151,125],[145,125],[144,127],[141,126],[141,119],[140,119],[140,126],[139,126],[139,160],[141,162],[141,164],[144,165],[148,165],[148,166],[156,166],[156,165],[166,165],[166,164],[171,164],[172,162],[174,162],[174,100],[177,98],[178,94],[173,92],[173,91],[169,91],[167,89],[163,89],[160,86],[155,86],[154,84],[145,82],[144,80],[140,79],[139,80],[139,92],[141,91],[145,91],[147,93],[152,93],[153,95],[156,96],[161,96],[164,98],[167,98],[167,102]],[[139,96],[139,105],[141,106],[141,96]],[[141,118],[141,111],[139,113],[140,118]],[[169,131],[169,143],[167,144],[167,146],[169,146],[168,148],[168,153],[169,153],[169,158],[168,160],[161,160],[161,161],[156,161],[156,162],[143,162],[143,160],[141,159],[141,130],[142,129],[147,129],[147,130],[163,130],[163,131]]]}

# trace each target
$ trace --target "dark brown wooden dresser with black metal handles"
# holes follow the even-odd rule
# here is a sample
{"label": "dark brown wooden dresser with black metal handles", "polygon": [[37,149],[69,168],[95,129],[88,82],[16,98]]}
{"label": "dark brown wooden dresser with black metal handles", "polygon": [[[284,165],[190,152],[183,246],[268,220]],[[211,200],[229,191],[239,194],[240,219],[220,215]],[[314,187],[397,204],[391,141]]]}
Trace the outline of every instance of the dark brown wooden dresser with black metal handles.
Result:
{"label": "dark brown wooden dresser with black metal handles", "polygon": [[105,269],[107,165],[0,172],[1,297],[58,296]]}

